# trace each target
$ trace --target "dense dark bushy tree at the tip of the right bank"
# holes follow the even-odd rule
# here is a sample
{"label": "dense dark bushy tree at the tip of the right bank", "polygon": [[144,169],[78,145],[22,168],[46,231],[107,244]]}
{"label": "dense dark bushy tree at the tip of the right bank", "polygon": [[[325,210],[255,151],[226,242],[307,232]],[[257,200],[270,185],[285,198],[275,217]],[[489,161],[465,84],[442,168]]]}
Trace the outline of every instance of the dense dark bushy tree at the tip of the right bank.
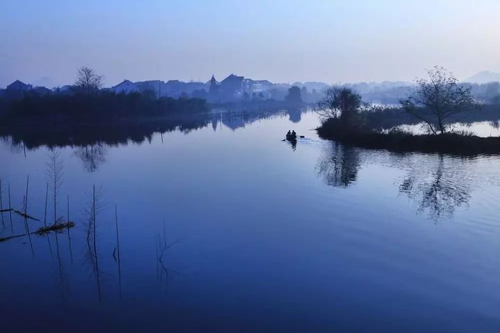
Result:
{"label": "dense dark bushy tree at the tip of the right bank", "polygon": [[317,113],[322,119],[338,119],[351,123],[363,107],[363,100],[350,87],[331,87],[326,89],[324,98],[317,105]]}

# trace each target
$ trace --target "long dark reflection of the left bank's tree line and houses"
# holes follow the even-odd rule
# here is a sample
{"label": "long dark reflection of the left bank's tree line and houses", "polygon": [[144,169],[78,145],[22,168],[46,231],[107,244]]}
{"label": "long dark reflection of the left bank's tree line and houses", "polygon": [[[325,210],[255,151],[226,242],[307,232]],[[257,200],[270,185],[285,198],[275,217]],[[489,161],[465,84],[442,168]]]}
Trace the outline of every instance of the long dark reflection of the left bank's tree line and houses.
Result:
{"label": "long dark reflection of the left bank's tree line and houses", "polygon": [[[103,146],[117,146],[133,142],[142,144],[151,142],[154,133],[168,133],[179,130],[190,133],[192,130],[205,128],[209,124],[213,130],[219,125],[226,126],[232,130],[244,128],[249,123],[263,119],[281,117],[289,114],[290,119],[298,122],[301,114],[308,109],[294,108],[292,110],[214,110],[210,113],[187,114],[181,117],[169,117],[155,119],[154,121],[117,121],[115,123],[94,124],[92,126],[79,126],[78,128],[37,128],[29,130],[26,128],[12,128],[12,132],[0,139],[10,144],[12,151],[22,152],[24,148],[34,149],[40,146],[76,146],[81,147],[77,155],[88,163],[89,169],[94,170],[99,164],[99,155],[103,156]],[[92,148],[94,151],[92,151]],[[92,155],[97,154],[97,156]],[[97,165],[99,167],[99,165]]]}

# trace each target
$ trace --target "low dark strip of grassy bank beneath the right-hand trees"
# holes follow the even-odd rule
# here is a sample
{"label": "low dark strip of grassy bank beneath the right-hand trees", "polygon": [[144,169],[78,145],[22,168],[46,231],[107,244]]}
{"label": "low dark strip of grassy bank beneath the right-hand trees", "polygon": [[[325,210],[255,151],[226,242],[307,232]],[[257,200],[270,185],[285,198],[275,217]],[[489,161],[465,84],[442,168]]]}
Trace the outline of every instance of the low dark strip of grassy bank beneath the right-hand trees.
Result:
{"label": "low dark strip of grassy bank beneath the right-hand trees", "polygon": [[361,148],[395,152],[449,153],[453,155],[499,154],[500,137],[478,137],[460,133],[412,135],[401,131],[346,130],[338,121],[326,121],[317,128],[319,137]]}

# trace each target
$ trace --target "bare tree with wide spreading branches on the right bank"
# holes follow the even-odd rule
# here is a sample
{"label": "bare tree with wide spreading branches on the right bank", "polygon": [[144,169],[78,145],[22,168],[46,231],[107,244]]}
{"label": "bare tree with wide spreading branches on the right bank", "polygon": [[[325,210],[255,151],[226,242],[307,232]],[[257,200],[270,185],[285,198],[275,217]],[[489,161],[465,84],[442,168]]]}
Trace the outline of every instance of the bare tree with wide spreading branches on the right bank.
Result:
{"label": "bare tree with wide spreading branches on the right bank", "polygon": [[442,134],[450,128],[449,120],[454,114],[476,110],[471,87],[458,84],[451,72],[443,67],[427,71],[429,78],[416,80],[417,87],[407,99],[400,101],[403,110],[424,121],[433,134]]}

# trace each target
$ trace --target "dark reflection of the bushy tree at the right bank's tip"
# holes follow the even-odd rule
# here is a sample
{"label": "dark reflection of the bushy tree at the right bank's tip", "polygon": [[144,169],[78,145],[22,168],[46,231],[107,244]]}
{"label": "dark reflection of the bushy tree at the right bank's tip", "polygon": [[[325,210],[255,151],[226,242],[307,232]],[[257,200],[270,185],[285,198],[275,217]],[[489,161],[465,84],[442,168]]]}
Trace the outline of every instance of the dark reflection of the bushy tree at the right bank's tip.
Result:
{"label": "dark reflection of the bushy tree at the right bank's tip", "polygon": [[322,175],[328,185],[348,187],[356,180],[360,167],[356,148],[333,142],[317,164],[318,175]]}

